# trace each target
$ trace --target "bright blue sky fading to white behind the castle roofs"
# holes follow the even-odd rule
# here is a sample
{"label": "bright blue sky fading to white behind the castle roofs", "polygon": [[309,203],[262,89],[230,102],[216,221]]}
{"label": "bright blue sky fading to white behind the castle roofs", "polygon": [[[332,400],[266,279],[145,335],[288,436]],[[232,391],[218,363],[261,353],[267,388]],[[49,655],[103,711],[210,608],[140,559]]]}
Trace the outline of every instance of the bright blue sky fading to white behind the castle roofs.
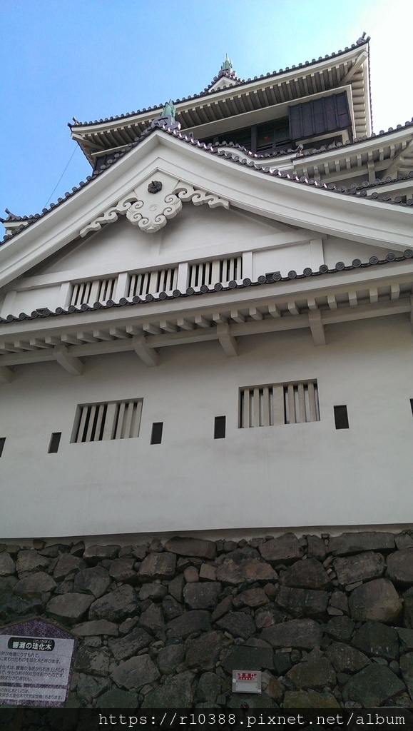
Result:
{"label": "bright blue sky fading to white behind the castle roofs", "polygon": [[226,53],[240,77],[254,77],[366,31],[374,131],[413,115],[412,0],[0,0],[0,12],[1,216],[37,213],[90,173],[70,139],[72,116],[197,94]]}

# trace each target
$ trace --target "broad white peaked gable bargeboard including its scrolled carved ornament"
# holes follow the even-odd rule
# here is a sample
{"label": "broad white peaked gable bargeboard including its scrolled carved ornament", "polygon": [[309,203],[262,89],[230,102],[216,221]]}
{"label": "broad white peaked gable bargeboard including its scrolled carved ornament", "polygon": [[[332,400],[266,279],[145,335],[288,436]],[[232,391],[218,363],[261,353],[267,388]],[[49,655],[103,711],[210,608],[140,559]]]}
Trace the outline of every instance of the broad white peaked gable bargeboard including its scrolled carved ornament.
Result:
{"label": "broad white peaked gable bargeboard including its scrolled carved ornament", "polygon": [[[156,183],[162,183],[162,189],[157,190]],[[317,189],[252,162],[237,164],[232,157],[211,154],[190,140],[156,129],[74,197],[4,244],[0,284],[119,218],[154,237],[182,215],[189,202],[208,206],[211,212],[221,210],[219,216],[229,210],[253,214],[267,219],[269,228],[279,221],[293,229],[383,246],[387,251],[411,245],[408,208]]]}

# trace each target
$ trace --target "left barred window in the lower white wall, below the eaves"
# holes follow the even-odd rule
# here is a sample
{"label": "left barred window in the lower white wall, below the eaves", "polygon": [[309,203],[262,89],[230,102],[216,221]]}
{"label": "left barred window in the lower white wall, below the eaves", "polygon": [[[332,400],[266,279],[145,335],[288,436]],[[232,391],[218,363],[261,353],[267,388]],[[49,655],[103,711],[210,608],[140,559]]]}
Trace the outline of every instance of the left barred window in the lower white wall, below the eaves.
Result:
{"label": "left barred window in the lower white wall, below the eaves", "polygon": [[105,442],[139,436],[142,398],[77,407],[72,442]]}

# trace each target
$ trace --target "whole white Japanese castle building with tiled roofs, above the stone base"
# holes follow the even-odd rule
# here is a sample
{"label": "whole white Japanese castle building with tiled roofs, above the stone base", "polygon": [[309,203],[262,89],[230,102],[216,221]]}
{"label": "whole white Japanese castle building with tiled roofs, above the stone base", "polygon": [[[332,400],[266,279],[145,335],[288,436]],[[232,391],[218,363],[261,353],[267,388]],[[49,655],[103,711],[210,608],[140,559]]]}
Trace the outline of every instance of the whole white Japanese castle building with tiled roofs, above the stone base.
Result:
{"label": "whole white Japanese castle building with tiled roofs, above the stone base", "polygon": [[413,122],[373,131],[368,40],[76,120],[86,181],[1,219],[2,539],[412,521]]}

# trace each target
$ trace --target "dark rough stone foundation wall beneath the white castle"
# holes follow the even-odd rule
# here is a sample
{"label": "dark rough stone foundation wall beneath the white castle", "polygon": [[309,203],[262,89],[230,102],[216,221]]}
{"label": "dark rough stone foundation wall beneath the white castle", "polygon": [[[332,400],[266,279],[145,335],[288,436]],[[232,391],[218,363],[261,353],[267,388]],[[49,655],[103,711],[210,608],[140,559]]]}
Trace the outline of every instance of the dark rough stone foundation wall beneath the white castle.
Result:
{"label": "dark rough stone foundation wall beneath the white castle", "polygon": [[413,708],[413,531],[0,545],[0,622],[34,615],[78,637],[72,708]]}

